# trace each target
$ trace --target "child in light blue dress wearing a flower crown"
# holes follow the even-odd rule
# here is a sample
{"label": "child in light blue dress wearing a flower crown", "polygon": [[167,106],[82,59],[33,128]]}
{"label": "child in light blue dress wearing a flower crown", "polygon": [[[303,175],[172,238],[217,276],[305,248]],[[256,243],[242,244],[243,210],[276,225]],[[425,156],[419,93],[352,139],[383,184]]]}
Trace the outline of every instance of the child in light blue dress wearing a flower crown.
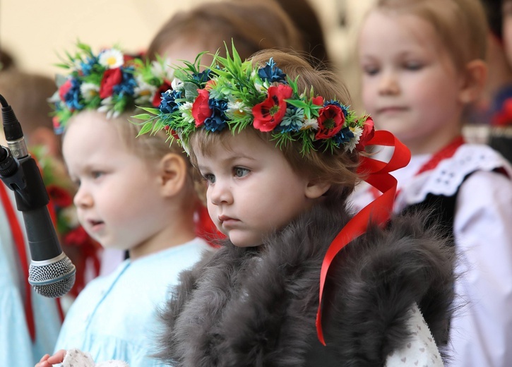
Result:
{"label": "child in light blue dress wearing a flower crown", "polygon": [[[66,315],[56,349],[80,348],[95,359],[155,366],[151,341],[157,306],[177,274],[208,245],[196,238],[198,198],[181,148],[144,135],[126,120],[135,104],[150,106],[164,76],[126,58],[119,49],[93,54],[79,45],[66,64],[71,74],[58,91],[56,130],[66,129],[63,153],[73,181],[74,203],[85,231],[105,248],[129,252],[111,275],[79,294]],[[161,65],[160,65],[161,66]],[[155,70],[162,71],[163,68]],[[106,113],[105,113],[106,112]],[[41,366],[47,366],[44,356]]]}

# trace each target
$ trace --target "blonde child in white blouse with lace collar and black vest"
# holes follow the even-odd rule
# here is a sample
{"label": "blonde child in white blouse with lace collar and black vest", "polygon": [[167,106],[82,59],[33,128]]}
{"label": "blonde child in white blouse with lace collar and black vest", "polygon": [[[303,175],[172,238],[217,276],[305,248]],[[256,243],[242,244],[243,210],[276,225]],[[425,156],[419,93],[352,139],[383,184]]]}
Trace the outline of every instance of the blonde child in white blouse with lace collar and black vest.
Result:
{"label": "blonde child in white blouse with lace collar and black vest", "polygon": [[359,35],[364,106],[412,152],[394,210],[429,207],[460,254],[452,366],[512,361],[512,169],[460,137],[484,84],[486,35],[477,0],[377,1]]}

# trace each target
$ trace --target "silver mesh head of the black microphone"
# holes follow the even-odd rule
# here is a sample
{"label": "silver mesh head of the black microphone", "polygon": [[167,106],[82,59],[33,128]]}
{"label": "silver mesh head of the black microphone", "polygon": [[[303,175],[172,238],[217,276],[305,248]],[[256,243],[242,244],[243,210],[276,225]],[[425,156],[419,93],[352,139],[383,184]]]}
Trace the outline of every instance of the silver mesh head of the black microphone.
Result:
{"label": "silver mesh head of the black microphone", "polygon": [[75,284],[76,268],[71,260],[61,253],[56,258],[30,263],[28,282],[44,297],[64,296]]}

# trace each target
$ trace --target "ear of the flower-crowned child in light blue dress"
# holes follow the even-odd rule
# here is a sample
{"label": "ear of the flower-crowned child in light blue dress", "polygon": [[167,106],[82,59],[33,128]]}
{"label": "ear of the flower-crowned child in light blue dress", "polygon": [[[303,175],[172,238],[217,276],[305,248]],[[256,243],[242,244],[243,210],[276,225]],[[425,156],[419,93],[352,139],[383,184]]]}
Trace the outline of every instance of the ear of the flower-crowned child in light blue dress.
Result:
{"label": "ear of the flower-crowned child in light blue dress", "polygon": [[181,155],[168,153],[160,160],[160,188],[165,197],[174,196],[186,183],[188,169]]}

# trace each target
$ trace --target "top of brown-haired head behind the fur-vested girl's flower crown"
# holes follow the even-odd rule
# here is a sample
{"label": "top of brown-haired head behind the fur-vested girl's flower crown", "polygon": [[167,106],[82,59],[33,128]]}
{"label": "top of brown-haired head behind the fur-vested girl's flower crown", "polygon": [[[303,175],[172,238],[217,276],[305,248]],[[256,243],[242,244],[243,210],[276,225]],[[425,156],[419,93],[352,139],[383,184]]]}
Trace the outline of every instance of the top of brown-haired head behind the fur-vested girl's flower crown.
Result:
{"label": "top of brown-haired head behind the fur-vested girl's flower crown", "polygon": [[[205,35],[208,35],[206,37]],[[238,45],[242,59],[261,49],[287,49],[304,52],[309,49],[302,36],[275,1],[206,1],[174,14],[157,32],[148,48],[148,58],[155,55],[169,59],[194,60],[199,52],[224,52],[224,42]],[[210,59],[208,59],[210,58]],[[211,56],[203,57],[208,65]]]}

